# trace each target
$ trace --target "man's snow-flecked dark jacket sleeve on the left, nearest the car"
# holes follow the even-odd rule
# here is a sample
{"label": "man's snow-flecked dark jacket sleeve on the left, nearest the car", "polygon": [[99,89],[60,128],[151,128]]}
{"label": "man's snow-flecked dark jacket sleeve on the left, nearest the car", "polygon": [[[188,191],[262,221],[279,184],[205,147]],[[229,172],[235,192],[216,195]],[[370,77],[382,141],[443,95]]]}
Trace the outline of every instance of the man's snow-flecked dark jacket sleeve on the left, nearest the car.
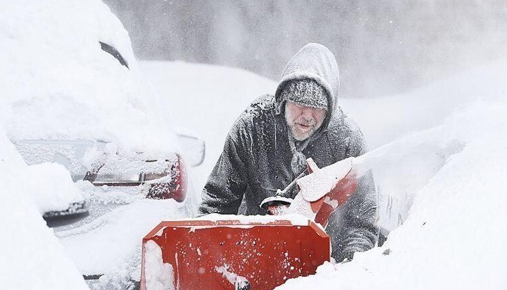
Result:
{"label": "man's snow-flecked dark jacket sleeve on the left, nearest the car", "polygon": [[244,127],[238,119],[228,133],[224,151],[204,186],[199,213],[237,214],[247,189],[244,144],[249,136]]}

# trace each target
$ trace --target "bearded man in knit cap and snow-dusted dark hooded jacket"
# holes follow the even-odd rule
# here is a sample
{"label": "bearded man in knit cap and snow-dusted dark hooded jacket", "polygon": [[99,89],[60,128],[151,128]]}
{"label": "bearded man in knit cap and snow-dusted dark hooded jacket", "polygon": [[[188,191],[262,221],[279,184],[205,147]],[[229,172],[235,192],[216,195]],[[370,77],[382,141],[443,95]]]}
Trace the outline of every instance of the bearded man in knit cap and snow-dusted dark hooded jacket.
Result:
{"label": "bearded man in knit cap and snow-dusted dark hooded jacket", "polygon": [[[306,158],[325,167],[366,152],[364,138],[338,105],[334,55],[309,43],[290,59],[274,96],[251,104],[235,121],[203,190],[201,213],[264,215],[260,202],[306,170]],[[290,193],[297,194],[297,188]],[[329,217],[336,261],[352,259],[377,242],[377,199],[371,173]]]}

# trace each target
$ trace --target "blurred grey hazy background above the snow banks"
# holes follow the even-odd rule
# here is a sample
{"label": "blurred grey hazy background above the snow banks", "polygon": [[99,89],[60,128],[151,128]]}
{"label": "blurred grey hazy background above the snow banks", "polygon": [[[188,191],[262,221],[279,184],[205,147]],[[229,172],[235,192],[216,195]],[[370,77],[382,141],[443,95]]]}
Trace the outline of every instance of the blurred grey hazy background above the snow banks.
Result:
{"label": "blurred grey hazy background above the snow banks", "polygon": [[277,79],[297,49],[326,45],[341,96],[391,96],[507,51],[505,0],[104,0],[138,59],[244,68]]}

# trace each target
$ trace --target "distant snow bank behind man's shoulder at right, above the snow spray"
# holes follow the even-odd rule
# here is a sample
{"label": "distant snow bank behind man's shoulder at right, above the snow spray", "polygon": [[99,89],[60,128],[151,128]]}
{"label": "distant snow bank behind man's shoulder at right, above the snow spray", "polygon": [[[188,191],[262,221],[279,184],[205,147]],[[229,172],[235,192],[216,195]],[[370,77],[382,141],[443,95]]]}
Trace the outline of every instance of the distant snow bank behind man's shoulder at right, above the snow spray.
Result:
{"label": "distant snow bank behind man's shoulder at right, above the snow spray", "polygon": [[433,128],[477,98],[506,96],[507,60],[467,70],[430,86],[385,98],[338,101],[359,123],[370,149]]}

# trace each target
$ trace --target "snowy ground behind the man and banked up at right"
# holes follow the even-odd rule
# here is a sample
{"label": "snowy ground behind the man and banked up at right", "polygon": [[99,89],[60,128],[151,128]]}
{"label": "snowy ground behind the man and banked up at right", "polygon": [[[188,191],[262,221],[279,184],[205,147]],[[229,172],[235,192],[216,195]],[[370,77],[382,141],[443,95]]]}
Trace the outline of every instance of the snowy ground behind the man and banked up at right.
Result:
{"label": "snowy ground behind the man and banked up at right", "polygon": [[[180,125],[208,144],[196,188],[235,117],[276,86],[230,68],[143,62],[141,70],[166,106],[179,108]],[[501,61],[400,96],[341,100],[372,148],[362,162],[375,169],[380,223],[395,229],[397,215],[406,221],[383,247],[280,289],[505,289],[506,76]]]}

